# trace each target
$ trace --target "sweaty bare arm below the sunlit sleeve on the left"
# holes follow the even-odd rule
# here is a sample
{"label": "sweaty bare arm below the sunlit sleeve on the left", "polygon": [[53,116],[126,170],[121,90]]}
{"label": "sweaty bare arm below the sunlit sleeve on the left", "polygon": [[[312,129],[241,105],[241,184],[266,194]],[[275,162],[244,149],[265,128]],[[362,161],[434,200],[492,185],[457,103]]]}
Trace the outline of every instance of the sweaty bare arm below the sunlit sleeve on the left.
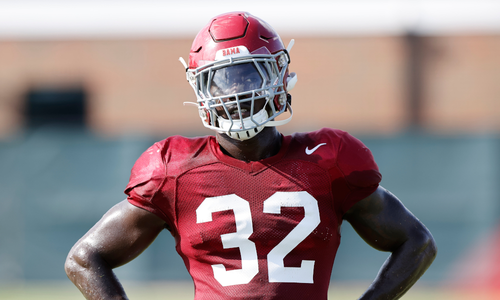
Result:
{"label": "sweaty bare arm below the sunlit sleeve on the left", "polygon": [[112,269],[137,257],[164,228],[158,216],[121,201],[71,248],[66,274],[86,299],[128,299]]}

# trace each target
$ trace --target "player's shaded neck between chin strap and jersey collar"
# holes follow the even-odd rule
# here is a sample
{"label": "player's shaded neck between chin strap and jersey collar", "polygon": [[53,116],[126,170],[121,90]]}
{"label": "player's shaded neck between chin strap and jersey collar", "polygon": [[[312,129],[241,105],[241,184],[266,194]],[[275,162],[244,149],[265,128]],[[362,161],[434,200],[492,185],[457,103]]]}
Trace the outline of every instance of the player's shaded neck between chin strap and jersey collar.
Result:
{"label": "player's shaded neck between chin strap and jersey collar", "polygon": [[281,134],[276,127],[264,127],[247,140],[237,140],[225,133],[216,133],[215,138],[222,152],[243,161],[257,161],[276,155],[281,148]]}

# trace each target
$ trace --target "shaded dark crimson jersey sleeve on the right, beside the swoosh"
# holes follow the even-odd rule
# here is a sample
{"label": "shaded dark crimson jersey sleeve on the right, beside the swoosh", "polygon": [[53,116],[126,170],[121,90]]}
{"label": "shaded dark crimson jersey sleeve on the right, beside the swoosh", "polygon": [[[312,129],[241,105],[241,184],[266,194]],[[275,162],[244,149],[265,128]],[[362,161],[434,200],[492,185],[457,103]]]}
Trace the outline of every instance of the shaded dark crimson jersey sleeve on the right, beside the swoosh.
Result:
{"label": "shaded dark crimson jersey sleeve on the right, beside the swoosh", "polygon": [[382,179],[371,151],[357,138],[344,133],[338,144],[337,167],[349,188],[340,203],[343,215],[357,201],[373,193]]}

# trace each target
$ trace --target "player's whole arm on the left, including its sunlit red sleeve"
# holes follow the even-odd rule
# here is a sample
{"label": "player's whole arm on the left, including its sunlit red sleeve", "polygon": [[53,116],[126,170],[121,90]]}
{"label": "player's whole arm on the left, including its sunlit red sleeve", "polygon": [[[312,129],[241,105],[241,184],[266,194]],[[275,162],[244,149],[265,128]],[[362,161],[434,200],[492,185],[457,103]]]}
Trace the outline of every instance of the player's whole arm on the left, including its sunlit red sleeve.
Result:
{"label": "player's whole arm on the left, including its sunlit red sleeve", "polygon": [[154,200],[165,179],[161,142],[135,162],[126,200],[114,205],[71,248],[65,270],[87,299],[127,299],[112,269],[139,255],[171,221]]}

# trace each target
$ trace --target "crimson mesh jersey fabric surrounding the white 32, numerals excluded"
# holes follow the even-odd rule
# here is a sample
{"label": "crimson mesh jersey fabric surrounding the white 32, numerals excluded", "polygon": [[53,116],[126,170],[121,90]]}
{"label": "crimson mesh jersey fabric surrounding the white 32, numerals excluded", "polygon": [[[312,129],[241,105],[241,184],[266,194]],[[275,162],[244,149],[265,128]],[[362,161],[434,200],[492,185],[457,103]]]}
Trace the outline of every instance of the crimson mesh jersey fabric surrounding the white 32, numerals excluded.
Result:
{"label": "crimson mesh jersey fabric surrounding the white 32, numerals excluded", "polygon": [[[249,163],[225,156],[213,137],[173,140],[148,149],[158,153],[156,158],[149,154],[139,158],[125,192],[132,204],[157,214],[173,227],[176,250],[194,280],[195,299],[326,299],[340,243],[339,220],[380,181],[371,152],[364,151],[365,146],[344,131],[329,128],[285,136],[277,155]],[[305,153],[306,146],[319,143],[326,144],[312,154]],[[160,161],[166,167],[160,167]],[[161,171],[155,173],[151,165]],[[148,186],[147,182],[134,181],[147,176],[141,168],[153,174],[151,181],[155,183]],[[161,172],[163,177],[158,175]],[[146,190],[142,190],[144,186],[148,186]],[[313,283],[269,282],[267,254],[302,221],[304,207],[264,213],[263,202],[276,192],[298,191],[306,191],[317,201],[320,221],[284,256],[283,265],[300,267],[302,260],[313,260]],[[248,239],[255,244],[258,272],[248,283],[222,286],[211,265],[223,264],[226,270],[242,267],[240,249],[223,248],[221,240],[222,234],[236,231],[235,215],[232,209],[222,210],[213,212],[211,221],[197,223],[196,208],[206,198],[231,194],[249,203],[253,232]]]}

